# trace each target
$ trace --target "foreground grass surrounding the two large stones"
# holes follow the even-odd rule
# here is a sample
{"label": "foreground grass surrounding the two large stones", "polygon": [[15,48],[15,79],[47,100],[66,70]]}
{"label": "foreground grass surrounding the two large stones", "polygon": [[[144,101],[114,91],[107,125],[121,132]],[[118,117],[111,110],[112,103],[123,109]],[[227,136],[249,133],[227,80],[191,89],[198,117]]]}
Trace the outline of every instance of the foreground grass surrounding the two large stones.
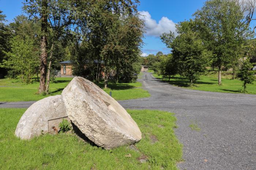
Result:
{"label": "foreground grass surrounding the two large stones", "polygon": [[[127,146],[104,150],[74,134],[16,138],[16,125],[25,110],[0,109],[0,169],[177,169],[176,162],[182,161],[173,113],[128,110],[142,131],[142,140],[135,150]],[[141,163],[141,158],[147,161]]]}

